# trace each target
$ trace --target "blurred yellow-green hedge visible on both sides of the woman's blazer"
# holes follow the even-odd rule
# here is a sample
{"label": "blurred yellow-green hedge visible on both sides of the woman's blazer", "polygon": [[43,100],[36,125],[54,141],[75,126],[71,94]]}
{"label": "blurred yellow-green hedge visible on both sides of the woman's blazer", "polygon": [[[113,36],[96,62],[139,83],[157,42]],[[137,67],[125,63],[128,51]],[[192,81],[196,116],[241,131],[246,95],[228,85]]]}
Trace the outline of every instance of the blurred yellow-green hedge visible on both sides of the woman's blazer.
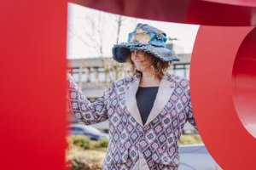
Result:
{"label": "blurred yellow-green hedge visible on both sides of the woman's blazer", "polygon": [[[108,139],[95,141],[83,135],[67,137],[67,167],[73,170],[100,170],[108,150]],[[180,145],[203,144],[199,134],[182,135]]]}

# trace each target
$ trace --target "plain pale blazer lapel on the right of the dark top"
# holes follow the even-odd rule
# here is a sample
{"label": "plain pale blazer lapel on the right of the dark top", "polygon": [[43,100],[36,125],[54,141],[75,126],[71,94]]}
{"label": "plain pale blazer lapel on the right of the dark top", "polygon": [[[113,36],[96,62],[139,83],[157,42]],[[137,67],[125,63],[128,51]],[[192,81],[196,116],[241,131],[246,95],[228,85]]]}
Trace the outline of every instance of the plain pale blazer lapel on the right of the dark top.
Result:
{"label": "plain pale blazer lapel on the right of the dark top", "polygon": [[[166,77],[172,77],[168,74]],[[149,122],[152,122],[156,116],[160,114],[160,112],[166,106],[168,100],[170,99],[175,88],[175,84],[162,78],[160,82],[160,86],[158,88],[158,93],[156,94],[156,99],[154,100],[154,105],[150,114],[148,116],[148,120],[144,126],[147,126]]]}

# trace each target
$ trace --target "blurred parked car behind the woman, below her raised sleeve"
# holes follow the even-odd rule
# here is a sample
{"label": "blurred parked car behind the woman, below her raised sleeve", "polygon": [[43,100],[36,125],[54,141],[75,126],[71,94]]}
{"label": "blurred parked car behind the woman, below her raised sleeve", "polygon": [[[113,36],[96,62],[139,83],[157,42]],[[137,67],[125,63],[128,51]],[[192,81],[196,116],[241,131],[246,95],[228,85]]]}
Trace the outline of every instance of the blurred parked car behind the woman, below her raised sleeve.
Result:
{"label": "blurred parked car behind the woman, below her raised sleeve", "polygon": [[82,124],[71,124],[67,126],[68,134],[82,134],[91,140],[109,139],[108,133],[102,133],[96,127],[90,127]]}

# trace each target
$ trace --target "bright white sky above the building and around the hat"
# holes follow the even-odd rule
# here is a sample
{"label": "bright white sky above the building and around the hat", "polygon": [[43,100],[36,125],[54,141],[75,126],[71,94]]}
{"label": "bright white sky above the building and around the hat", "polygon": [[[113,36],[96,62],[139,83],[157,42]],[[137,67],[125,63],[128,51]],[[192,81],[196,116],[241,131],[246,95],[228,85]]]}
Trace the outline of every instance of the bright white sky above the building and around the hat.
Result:
{"label": "bright white sky above the building and around the hat", "polygon": [[[78,4],[68,3],[67,16],[67,59],[98,57],[100,51],[104,57],[112,57],[113,44],[117,40],[116,21],[119,15],[86,8]],[[137,23],[148,24],[166,32],[167,37],[176,37],[173,43],[182,46],[184,53],[192,52],[199,25],[177,24],[156,20],[143,20],[122,16],[119,32],[119,43],[127,42],[128,33],[133,31]],[[93,29],[92,26],[95,26]],[[100,31],[100,33],[99,33]],[[102,44],[102,50],[100,50]]]}

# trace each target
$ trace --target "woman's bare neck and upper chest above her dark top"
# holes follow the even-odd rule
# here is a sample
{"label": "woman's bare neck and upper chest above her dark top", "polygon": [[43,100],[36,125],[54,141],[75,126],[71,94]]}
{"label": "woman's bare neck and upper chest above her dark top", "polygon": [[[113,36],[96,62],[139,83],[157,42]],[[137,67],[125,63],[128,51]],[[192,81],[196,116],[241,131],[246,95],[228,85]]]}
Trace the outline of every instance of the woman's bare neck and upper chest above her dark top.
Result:
{"label": "woman's bare neck and upper chest above her dark top", "polygon": [[159,87],[160,77],[152,75],[150,72],[143,72],[139,87]]}

